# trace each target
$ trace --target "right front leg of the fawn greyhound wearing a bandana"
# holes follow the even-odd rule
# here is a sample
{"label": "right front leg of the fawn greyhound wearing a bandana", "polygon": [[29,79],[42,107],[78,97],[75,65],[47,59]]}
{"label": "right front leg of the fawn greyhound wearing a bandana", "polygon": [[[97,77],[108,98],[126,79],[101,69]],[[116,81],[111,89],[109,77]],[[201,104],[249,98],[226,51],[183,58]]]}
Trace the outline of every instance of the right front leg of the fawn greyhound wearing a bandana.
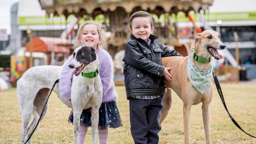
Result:
{"label": "right front leg of the fawn greyhound wearing a bandana", "polygon": [[211,130],[210,130],[210,103],[202,102],[202,115],[204,121],[204,133],[206,144],[211,144]]}

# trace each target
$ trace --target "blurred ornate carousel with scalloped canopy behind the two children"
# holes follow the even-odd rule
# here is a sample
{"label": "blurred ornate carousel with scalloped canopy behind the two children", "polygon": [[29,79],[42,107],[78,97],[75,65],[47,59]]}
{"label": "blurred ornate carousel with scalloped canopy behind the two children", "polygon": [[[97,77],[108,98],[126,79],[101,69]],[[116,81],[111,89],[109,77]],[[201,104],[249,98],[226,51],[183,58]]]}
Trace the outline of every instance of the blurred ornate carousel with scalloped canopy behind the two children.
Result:
{"label": "blurred ornate carousel with scalloped canopy behind the two children", "polygon": [[[190,11],[208,11],[213,0],[39,0],[42,9],[47,14],[75,15],[78,19],[95,19],[103,15],[102,24],[109,32],[108,51],[114,56],[124,50],[126,41],[130,38],[129,18],[136,11],[147,11],[152,14],[154,21],[154,35],[158,41],[167,46],[174,46],[175,50],[187,55],[188,46],[177,39],[177,24],[171,15],[182,11],[189,15]],[[162,18],[159,22],[158,18]]]}

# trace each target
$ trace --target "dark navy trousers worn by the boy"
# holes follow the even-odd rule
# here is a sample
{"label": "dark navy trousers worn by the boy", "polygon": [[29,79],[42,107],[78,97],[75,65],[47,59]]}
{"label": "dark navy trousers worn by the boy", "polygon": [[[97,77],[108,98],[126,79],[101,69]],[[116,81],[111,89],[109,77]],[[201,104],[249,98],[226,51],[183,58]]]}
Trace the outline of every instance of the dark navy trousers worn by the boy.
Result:
{"label": "dark navy trousers worn by the boy", "polygon": [[131,133],[135,144],[158,144],[163,96],[152,100],[130,98]]}

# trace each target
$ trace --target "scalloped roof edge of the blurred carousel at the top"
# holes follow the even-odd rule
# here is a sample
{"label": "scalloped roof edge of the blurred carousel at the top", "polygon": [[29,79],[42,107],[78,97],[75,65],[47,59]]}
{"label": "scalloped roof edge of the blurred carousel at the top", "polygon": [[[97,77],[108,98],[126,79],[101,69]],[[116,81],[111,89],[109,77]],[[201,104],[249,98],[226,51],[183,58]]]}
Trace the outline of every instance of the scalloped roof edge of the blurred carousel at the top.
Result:
{"label": "scalloped roof edge of the blurred carousel at the top", "polygon": [[48,14],[96,16],[106,11],[115,11],[117,7],[123,8],[126,13],[132,13],[135,8],[140,7],[141,10],[157,15],[164,12],[178,13],[178,11],[187,14],[191,10],[208,9],[213,0],[39,0],[39,2]]}

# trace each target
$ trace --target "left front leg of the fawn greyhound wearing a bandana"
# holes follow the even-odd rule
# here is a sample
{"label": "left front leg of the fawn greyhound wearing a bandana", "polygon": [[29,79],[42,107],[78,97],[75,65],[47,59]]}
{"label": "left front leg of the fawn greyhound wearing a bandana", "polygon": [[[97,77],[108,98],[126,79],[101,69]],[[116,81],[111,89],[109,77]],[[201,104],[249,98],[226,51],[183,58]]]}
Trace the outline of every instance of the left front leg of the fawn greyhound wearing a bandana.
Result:
{"label": "left front leg of the fawn greyhound wearing a bandana", "polygon": [[183,122],[184,122],[184,143],[189,144],[189,115],[191,106],[189,103],[183,104]]}

